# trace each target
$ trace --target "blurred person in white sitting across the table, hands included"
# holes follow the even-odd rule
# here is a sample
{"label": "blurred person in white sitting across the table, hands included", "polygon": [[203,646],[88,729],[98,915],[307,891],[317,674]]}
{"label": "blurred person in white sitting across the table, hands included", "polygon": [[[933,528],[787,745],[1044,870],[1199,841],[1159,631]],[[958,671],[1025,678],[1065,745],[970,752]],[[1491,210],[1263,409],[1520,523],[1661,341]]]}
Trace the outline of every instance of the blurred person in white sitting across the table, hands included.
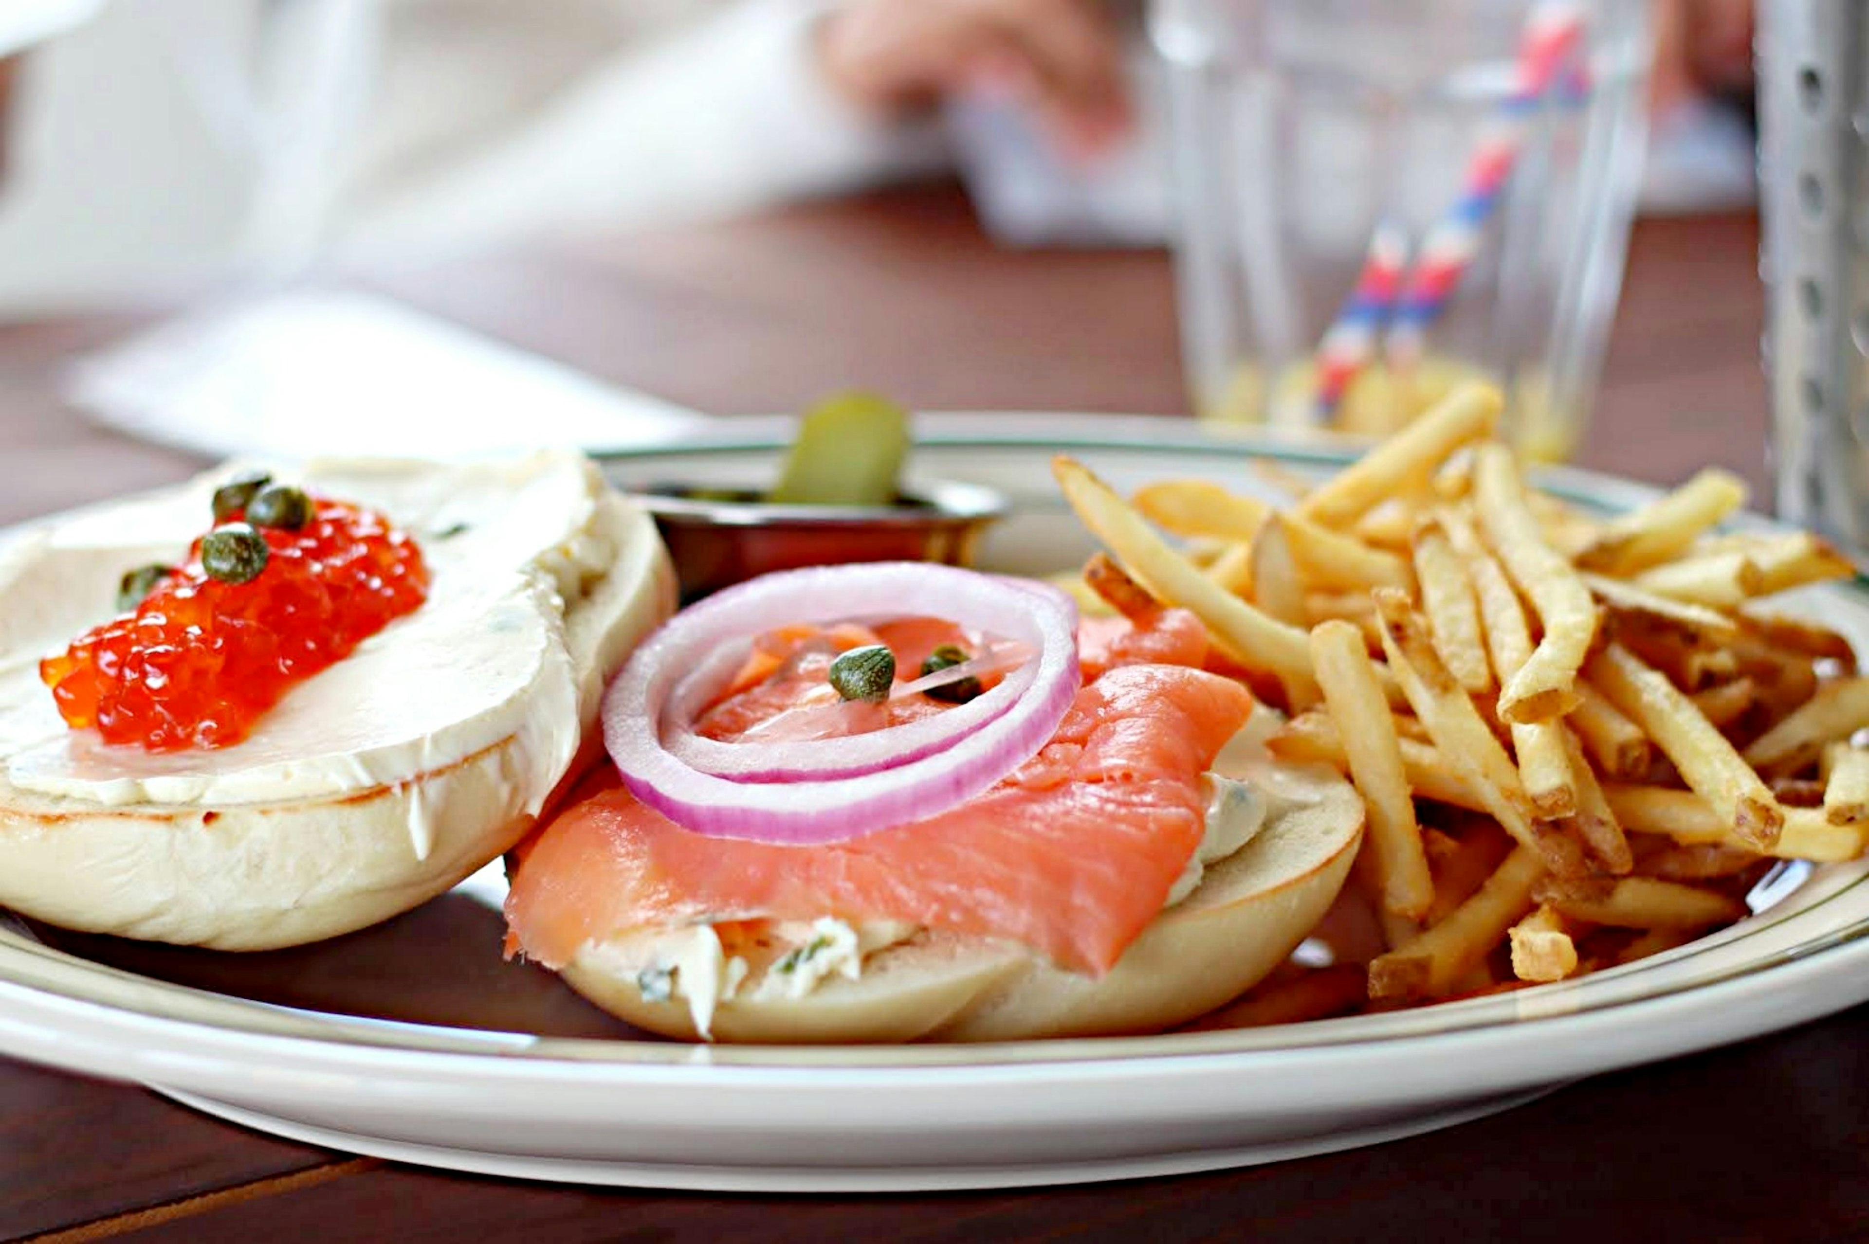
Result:
{"label": "blurred person in white sitting across the table, hands included", "polygon": [[[1652,168],[1665,176],[1650,200],[1712,202],[1734,191],[1734,140],[1697,108],[1740,82],[1751,6],[1656,4]],[[116,0],[17,75],[0,310],[290,273],[331,250],[422,258],[749,211],[940,168],[953,136],[991,205],[1011,174],[966,159],[953,121],[974,105],[1030,121],[1043,149],[1015,163],[1047,164],[1041,179],[1101,166],[1093,198],[1148,191],[1088,233],[1159,239],[1166,196],[1146,148],[1161,118],[1134,80],[1138,7]],[[1673,170],[1671,142],[1690,157]],[[1749,146],[1740,163],[1749,185]],[[1045,220],[1017,237],[1052,239],[1093,237]]]}

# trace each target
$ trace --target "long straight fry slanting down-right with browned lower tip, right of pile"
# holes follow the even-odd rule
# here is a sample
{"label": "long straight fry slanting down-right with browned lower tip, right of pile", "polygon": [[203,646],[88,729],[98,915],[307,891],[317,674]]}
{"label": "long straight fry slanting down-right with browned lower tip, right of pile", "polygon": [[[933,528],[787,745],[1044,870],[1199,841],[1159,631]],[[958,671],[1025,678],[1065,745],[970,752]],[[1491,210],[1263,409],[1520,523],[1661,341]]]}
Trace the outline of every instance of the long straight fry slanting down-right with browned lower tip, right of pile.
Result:
{"label": "long straight fry slanting down-right with browned lower tip, right of pile", "polygon": [[1731,809],[1733,831],[1748,844],[1770,850],[1785,826],[1785,811],[1733,743],[1699,714],[1663,674],[1648,669],[1622,644],[1609,644],[1589,665],[1591,684],[1654,740],[1682,781],[1718,809]]}

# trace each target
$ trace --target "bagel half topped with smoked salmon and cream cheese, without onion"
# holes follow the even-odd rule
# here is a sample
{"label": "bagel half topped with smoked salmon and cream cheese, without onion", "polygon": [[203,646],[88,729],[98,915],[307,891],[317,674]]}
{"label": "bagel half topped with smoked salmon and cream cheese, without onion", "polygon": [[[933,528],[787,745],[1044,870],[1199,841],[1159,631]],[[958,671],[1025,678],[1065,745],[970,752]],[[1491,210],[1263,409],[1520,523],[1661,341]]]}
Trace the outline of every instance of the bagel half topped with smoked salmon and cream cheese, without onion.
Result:
{"label": "bagel half topped with smoked salmon and cream cheese, without onion", "polygon": [[[908,633],[923,622],[871,626],[912,665]],[[682,1040],[1149,1033],[1237,997],[1334,902],[1363,799],[1338,773],[1265,751],[1277,714],[1198,669],[1206,639],[1191,615],[1116,622],[1129,631],[1114,644],[1091,626],[1112,624],[1084,624],[1082,684],[1050,742],[927,820],[826,842],[720,837],[598,766],[508,855],[508,953]],[[850,629],[817,643],[863,639]],[[744,704],[807,702],[809,689],[781,686],[811,659],[804,631],[776,635],[807,644],[806,657],[781,654],[766,684],[718,702],[701,728]],[[619,730],[669,730],[667,712],[632,723],[615,710],[613,753]]]}

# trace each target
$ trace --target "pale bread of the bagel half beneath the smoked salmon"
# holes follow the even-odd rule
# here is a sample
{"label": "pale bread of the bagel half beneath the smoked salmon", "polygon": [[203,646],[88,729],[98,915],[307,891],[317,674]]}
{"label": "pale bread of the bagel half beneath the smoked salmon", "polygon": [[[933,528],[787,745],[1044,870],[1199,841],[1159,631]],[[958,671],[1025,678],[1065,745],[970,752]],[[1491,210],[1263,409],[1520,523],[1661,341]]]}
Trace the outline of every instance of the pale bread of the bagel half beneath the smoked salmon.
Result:
{"label": "pale bread of the bagel half beneath the smoked salmon", "polygon": [[[804,997],[742,988],[712,1018],[733,1042],[1020,1040],[1151,1033],[1232,1001],[1323,919],[1363,841],[1363,799],[1325,770],[1277,770],[1263,827],[1209,865],[1103,977],[1052,966],[1022,945],[920,932],[863,958],[856,981]],[[654,936],[637,930],[630,936]],[[637,1027],[695,1040],[684,999],[647,1001],[626,956],[585,947],[563,968],[579,994]],[[757,981],[748,982],[757,984]]]}

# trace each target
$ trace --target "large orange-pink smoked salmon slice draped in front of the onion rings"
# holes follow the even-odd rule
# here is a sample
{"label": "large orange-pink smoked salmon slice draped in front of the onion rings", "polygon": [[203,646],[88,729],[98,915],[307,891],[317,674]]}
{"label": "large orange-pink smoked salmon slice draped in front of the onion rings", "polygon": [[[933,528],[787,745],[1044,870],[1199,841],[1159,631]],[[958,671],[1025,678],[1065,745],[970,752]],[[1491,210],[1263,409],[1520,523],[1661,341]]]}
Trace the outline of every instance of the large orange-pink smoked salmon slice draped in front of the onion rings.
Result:
{"label": "large orange-pink smoked salmon slice draped in front of the onion rings", "polygon": [[[1114,648],[1106,659],[1121,659]],[[1191,663],[1204,652],[1202,639]],[[1123,665],[1084,686],[1052,742],[983,796],[830,846],[688,833],[604,766],[518,857],[506,947],[561,968],[632,928],[832,915],[1009,938],[1103,973],[1200,844],[1200,775],[1250,708],[1228,678]]]}

